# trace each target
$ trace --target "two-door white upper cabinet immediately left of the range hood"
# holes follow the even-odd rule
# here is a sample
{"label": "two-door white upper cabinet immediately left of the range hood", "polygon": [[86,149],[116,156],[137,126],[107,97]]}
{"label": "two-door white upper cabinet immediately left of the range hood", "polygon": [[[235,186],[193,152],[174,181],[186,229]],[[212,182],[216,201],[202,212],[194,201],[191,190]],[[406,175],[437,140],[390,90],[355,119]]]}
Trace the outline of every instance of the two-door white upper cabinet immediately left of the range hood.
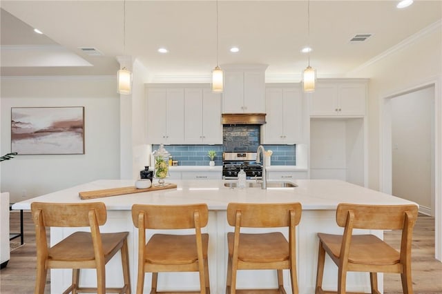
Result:
{"label": "two-door white upper cabinet immediately left of the range hood", "polygon": [[222,144],[221,95],[184,89],[184,144]]}

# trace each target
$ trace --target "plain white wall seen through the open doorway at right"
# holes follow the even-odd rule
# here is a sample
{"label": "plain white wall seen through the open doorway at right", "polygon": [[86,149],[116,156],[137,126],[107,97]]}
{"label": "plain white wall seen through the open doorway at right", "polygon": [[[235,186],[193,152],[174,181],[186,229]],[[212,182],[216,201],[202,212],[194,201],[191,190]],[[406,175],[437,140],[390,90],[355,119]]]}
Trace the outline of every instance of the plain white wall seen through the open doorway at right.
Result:
{"label": "plain white wall seen through the open doorway at right", "polygon": [[431,212],[434,87],[394,97],[390,106],[393,195]]}

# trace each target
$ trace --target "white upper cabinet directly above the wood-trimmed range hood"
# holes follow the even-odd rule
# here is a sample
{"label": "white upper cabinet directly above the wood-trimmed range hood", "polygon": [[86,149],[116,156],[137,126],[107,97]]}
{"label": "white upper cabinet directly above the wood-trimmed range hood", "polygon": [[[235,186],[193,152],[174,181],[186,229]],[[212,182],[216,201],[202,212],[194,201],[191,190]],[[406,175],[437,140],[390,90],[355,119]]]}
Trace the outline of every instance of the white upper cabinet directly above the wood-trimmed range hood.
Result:
{"label": "white upper cabinet directly above the wood-trimmed range hood", "polygon": [[222,113],[265,113],[266,68],[266,65],[222,66]]}

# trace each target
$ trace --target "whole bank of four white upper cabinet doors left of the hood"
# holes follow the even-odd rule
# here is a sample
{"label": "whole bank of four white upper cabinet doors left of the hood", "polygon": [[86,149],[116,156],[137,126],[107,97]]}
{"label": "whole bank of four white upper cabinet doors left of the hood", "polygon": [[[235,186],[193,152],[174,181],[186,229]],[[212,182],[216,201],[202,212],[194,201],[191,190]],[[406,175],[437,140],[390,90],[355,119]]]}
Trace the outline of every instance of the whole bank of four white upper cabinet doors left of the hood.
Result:
{"label": "whole bank of four white upper cabinet doors left of the hood", "polygon": [[148,144],[222,144],[221,95],[209,84],[147,84]]}

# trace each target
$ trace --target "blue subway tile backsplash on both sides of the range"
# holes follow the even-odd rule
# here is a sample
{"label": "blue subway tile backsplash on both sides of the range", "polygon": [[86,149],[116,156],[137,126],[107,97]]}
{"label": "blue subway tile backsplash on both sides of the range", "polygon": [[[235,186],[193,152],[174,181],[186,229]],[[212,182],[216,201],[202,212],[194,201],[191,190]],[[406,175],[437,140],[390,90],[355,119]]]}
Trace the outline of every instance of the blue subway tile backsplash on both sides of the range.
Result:
{"label": "blue subway tile backsplash on both sides of the range", "polygon": [[[157,150],[160,146],[153,145],[152,150]],[[295,166],[296,165],[296,146],[295,145],[264,145],[265,150],[272,150],[272,166]],[[215,166],[222,166],[222,145],[166,145],[164,146],[173,160],[178,161],[179,166],[208,166],[209,157],[207,151],[215,150]],[[257,147],[258,148],[258,147]],[[256,152],[256,149],[253,150]]]}

